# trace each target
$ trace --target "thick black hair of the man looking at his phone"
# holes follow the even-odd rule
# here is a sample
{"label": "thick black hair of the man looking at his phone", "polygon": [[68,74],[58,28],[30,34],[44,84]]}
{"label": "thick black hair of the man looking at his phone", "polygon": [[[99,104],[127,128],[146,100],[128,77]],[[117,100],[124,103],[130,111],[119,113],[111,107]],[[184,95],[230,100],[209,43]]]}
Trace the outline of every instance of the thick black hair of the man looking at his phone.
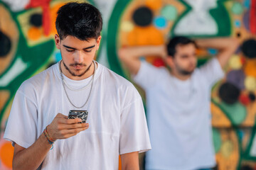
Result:
{"label": "thick black hair of the man looking at his phone", "polygon": [[59,8],[55,26],[60,40],[68,35],[80,40],[98,38],[102,30],[102,16],[95,6],[70,2]]}

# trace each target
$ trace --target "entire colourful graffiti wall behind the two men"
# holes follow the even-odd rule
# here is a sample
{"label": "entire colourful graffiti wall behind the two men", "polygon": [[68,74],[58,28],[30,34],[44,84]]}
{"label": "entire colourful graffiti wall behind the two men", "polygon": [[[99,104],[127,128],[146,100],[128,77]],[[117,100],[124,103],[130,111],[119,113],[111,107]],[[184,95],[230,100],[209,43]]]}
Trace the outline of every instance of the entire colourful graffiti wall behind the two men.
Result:
{"label": "entire colourful graffiti wall behind the two men", "polygon": [[[2,139],[21,83],[61,59],[55,48],[56,11],[65,0],[0,0],[0,169],[11,169],[14,148]],[[217,169],[256,168],[256,0],[89,1],[102,11],[102,45],[96,60],[131,80],[119,47],[161,45],[174,35],[234,37],[240,47],[213,88],[211,110]],[[198,66],[217,51],[198,50]],[[146,57],[164,67],[157,56]],[[139,87],[138,87],[139,89]],[[139,89],[143,98],[144,92]]]}

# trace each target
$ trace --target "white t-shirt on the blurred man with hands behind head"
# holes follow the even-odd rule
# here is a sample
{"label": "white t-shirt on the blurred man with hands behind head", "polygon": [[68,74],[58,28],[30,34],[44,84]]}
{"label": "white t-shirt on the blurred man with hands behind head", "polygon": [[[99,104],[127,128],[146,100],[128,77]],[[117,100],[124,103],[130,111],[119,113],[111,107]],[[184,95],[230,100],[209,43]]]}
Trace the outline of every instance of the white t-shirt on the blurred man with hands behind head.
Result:
{"label": "white t-shirt on the blurred man with hands behind head", "polygon": [[210,91],[223,77],[216,58],[181,81],[164,67],[142,62],[134,81],[146,92],[151,151],[146,169],[192,170],[215,166]]}

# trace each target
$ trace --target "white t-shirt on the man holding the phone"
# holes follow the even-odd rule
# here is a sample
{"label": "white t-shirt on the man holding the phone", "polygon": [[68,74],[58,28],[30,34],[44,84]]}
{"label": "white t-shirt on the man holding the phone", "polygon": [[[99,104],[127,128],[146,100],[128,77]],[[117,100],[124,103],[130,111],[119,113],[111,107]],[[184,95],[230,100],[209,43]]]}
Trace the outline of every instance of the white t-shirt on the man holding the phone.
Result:
{"label": "white t-shirt on the man holding the phone", "polygon": [[[151,149],[142,98],[126,79],[97,64],[92,93],[80,110],[88,111],[90,127],[65,140],[56,140],[41,169],[118,169],[119,154]],[[64,77],[75,106],[82,106],[90,79]],[[65,94],[58,64],[23,82],[14,98],[4,138],[30,147],[55,115],[74,108]]]}

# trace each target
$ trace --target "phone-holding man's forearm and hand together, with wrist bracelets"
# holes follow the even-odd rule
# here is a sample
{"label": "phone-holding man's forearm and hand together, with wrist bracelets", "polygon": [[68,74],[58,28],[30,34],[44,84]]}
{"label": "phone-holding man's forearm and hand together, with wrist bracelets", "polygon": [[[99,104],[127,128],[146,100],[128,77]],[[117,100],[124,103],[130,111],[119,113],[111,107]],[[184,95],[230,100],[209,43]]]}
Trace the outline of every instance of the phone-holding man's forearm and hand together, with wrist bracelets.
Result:
{"label": "phone-holding man's forearm and hand together, with wrist bracelets", "polygon": [[31,147],[23,148],[19,145],[14,146],[13,169],[37,169],[45,159],[52,145],[48,138],[53,140],[67,139],[73,137],[89,128],[88,123],[80,123],[80,118],[68,119],[68,116],[58,113],[52,123],[47,126],[46,135],[42,133],[38,140]]}

